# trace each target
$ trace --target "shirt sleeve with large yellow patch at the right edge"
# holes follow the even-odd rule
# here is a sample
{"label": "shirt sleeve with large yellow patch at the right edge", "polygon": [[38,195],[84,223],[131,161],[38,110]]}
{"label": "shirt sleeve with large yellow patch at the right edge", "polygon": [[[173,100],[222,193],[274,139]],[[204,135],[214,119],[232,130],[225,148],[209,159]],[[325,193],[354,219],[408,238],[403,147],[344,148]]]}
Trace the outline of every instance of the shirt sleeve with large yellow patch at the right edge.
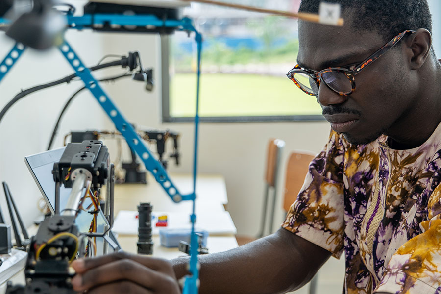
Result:
{"label": "shirt sleeve with large yellow patch at the right edge", "polygon": [[392,255],[374,293],[441,294],[441,184],[427,207],[429,220],[419,224],[422,233]]}

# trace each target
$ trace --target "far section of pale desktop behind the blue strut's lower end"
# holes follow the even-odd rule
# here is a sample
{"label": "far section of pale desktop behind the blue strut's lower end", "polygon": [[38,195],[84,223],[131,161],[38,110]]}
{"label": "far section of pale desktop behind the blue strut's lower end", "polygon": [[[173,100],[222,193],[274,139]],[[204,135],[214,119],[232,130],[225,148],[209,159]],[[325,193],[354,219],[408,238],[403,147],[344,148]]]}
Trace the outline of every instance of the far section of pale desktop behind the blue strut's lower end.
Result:
{"label": "far section of pale desktop behind the blue strut's lower end", "polygon": [[[189,194],[193,189],[190,174],[170,174],[173,184],[181,194]],[[196,215],[198,212],[221,212],[228,203],[225,180],[221,175],[199,175],[196,180]],[[147,184],[115,185],[115,210],[138,210],[140,202],[150,202],[154,211],[188,212],[192,211],[192,201],[175,203],[162,186],[152,177]]]}

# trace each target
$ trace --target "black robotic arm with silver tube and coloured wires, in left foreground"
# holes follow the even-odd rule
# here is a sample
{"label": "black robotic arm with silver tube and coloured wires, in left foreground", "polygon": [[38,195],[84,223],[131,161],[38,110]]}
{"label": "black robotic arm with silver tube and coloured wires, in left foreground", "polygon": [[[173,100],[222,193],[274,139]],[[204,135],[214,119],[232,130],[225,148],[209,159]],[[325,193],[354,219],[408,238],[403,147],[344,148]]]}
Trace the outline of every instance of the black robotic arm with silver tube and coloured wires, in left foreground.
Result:
{"label": "black robotic arm with silver tube and coloured wires, in left foreground", "polygon": [[[74,294],[71,279],[75,273],[69,268],[70,262],[77,255],[92,256],[92,252],[96,255],[97,237],[104,238],[108,245],[114,247],[107,235],[111,228],[107,223],[107,230],[97,233],[97,215],[100,212],[98,188],[105,182],[109,184],[109,165],[107,147],[100,141],[69,143],[66,146],[52,171],[58,191],[55,193],[55,215],[40,224],[27,247],[26,286],[8,285],[7,294]],[[61,211],[60,185],[72,188]],[[92,221],[89,232],[80,232],[75,220],[80,211],[85,210],[83,203],[86,198],[90,198],[93,204],[92,210],[87,211],[92,214]],[[85,238],[87,244],[84,243]]]}

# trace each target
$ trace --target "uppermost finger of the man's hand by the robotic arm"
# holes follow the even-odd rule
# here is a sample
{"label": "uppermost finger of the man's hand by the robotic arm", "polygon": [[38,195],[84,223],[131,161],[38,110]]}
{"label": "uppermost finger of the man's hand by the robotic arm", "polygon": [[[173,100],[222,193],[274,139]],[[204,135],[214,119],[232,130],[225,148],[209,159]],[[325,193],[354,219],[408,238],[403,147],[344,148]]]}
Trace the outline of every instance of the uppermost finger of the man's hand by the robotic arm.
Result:
{"label": "uppermost finger of the man's hand by the robotic arm", "polygon": [[90,270],[102,265],[105,265],[110,262],[122,260],[122,259],[131,259],[136,261],[137,263],[140,263],[152,270],[161,271],[167,274],[171,274],[170,270],[172,270],[172,267],[168,267],[168,262],[161,258],[155,258],[150,256],[142,256],[142,255],[135,255],[130,254],[126,252],[117,252],[107,255],[102,255],[99,257],[94,258],[84,258],[75,260],[72,263],[73,269],[77,273],[83,273],[86,270]]}

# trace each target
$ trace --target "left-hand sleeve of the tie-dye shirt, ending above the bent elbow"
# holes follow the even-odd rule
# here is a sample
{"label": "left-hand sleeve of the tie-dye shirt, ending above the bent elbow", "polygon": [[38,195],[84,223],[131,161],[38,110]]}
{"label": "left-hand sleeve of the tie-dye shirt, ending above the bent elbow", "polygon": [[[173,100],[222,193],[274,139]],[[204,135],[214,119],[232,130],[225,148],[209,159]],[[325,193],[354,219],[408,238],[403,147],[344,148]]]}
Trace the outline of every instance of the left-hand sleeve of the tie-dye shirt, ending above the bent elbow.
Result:
{"label": "left-hand sleeve of the tie-dye shirt, ending above the bent elbow", "polygon": [[328,143],[310,163],[303,187],[282,224],[337,258],[343,252],[344,149],[344,139],[331,131]]}

